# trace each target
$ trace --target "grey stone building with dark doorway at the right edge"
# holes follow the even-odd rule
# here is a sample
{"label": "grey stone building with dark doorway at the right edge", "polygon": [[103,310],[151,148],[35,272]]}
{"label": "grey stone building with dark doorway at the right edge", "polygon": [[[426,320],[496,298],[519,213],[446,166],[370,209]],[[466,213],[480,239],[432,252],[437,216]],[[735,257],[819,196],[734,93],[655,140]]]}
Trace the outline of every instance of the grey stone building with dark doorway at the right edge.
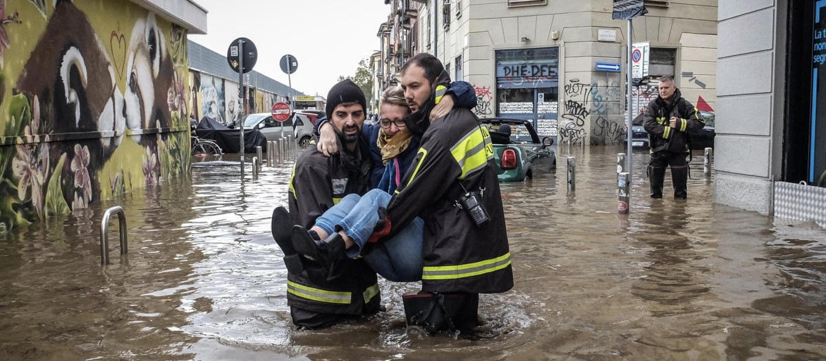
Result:
{"label": "grey stone building with dark doorway at the right edge", "polygon": [[719,2],[714,201],[826,227],[826,2]]}

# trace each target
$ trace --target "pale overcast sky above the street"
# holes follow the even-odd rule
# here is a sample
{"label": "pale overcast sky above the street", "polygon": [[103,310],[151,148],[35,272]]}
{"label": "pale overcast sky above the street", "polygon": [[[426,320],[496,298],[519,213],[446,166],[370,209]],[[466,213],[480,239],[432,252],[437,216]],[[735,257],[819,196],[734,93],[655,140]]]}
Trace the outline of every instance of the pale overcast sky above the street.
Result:
{"label": "pale overcast sky above the street", "polygon": [[292,87],[327,96],[339,76],[352,76],[358,61],[379,49],[379,25],[390,5],[383,0],[194,0],[207,9],[207,35],[189,35],[218,54],[245,37],[258,49],[253,70],[287,84],[279,61],[298,60]]}

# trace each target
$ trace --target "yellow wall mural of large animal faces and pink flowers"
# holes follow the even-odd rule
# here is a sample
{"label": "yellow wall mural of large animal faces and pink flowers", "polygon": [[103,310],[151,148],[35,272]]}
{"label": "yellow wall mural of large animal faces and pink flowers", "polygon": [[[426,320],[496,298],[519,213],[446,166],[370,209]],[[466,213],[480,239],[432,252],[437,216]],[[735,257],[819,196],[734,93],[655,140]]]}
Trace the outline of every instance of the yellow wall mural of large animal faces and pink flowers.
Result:
{"label": "yellow wall mural of large animal faces and pink flowers", "polygon": [[8,9],[0,232],[188,171],[186,30],[130,2],[0,1]]}

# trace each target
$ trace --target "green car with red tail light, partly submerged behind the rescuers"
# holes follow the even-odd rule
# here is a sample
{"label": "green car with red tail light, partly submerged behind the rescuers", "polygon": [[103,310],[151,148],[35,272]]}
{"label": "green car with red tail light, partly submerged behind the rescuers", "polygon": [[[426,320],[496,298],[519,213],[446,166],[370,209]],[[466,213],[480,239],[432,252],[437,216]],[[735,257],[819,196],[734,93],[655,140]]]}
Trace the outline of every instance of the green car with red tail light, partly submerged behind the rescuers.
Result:
{"label": "green car with red tail light, partly submerged behind the rescuers", "polygon": [[556,169],[553,138],[545,137],[540,141],[528,120],[485,118],[481,121],[491,134],[499,181],[529,180]]}

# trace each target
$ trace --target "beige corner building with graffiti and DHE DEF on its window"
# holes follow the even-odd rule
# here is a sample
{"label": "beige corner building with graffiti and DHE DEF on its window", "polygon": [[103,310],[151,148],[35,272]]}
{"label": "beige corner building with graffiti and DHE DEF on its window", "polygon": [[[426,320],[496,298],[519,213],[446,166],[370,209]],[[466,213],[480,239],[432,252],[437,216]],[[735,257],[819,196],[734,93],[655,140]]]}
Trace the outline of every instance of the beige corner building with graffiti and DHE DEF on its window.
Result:
{"label": "beige corner building with graffiti and DHE DEF on its window", "polygon": [[[396,9],[386,24],[392,66],[409,58],[408,49],[434,54],[453,79],[476,88],[480,117],[531,120],[558,143],[624,142],[627,22],[611,19],[611,0],[387,2]],[[717,1],[646,5],[633,42],[650,43],[654,81],[635,89],[640,106],[657,96],[657,77],[671,75],[686,99],[714,110]],[[411,8],[417,12],[397,10]],[[405,30],[405,21],[418,34],[393,44],[392,29]],[[619,63],[621,71],[596,71],[597,62]],[[385,72],[386,84],[398,82],[394,70]]]}

